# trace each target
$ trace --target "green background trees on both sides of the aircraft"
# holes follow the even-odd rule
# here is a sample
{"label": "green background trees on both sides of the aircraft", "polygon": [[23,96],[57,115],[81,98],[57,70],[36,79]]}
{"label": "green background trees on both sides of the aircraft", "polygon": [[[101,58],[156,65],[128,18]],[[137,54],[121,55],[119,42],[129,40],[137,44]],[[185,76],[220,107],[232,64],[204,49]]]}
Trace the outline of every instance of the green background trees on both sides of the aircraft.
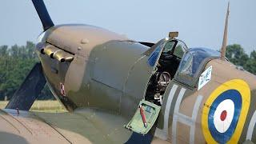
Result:
{"label": "green background trees on both sides of the aircraft", "polygon": [[[256,74],[255,50],[246,54],[242,46],[234,44],[227,46],[226,57],[235,65]],[[0,46],[0,100],[11,98],[36,62],[39,60],[33,42],[26,42],[26,46]],[[54,97],[45,86],[38,99],[54,99]]]}

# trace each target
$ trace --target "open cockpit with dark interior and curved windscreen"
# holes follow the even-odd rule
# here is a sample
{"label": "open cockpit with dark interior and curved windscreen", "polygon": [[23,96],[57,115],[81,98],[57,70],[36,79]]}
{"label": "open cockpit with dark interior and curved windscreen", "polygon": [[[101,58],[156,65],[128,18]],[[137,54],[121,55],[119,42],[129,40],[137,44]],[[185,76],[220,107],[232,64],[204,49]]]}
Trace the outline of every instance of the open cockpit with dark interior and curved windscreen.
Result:
{"label": "open cockpit with dark interior and curved windscreen", "polygon": [[154,66],[154,71],[146,90],[146,101],[154,102],[158,106],[162,105],[162,95],[174,78],[186,50],[188,50],[186,44],[174,38],[155,47],[148,59],[148,64]]}

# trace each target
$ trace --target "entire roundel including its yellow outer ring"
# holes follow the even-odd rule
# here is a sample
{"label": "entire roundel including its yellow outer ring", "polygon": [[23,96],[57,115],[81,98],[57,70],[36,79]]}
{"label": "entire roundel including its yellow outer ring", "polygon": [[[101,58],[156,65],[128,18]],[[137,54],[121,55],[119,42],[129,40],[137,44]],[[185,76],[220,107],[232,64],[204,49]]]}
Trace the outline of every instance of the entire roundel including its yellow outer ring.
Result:
{"label": "entire roundel including its yellow outer ring", "polygon": [[202,132],[207,143],[237,143],[250,106],[250,87],[241,79],[218,86],[206,100]]}

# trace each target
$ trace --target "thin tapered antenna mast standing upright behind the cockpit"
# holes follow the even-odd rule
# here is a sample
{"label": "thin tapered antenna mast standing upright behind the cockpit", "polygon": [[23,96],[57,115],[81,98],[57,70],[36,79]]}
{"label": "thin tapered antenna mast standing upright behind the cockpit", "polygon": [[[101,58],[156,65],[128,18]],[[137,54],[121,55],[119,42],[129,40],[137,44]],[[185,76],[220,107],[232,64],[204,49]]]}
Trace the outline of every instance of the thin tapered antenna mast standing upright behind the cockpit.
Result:
{"label": "thin tapered antenna mast standing upright behind the cockpit", "polygon": [[228,3],[227,11],[226,11],[226,22],[225,22],[225,29],[224,29],[224,35],[223,35],[222,50],[221,50],[222,60],[225,60],[226,58],[226,42],[227,42],[227,29],[228,29],[228,23],[229,23],[229,15],[230,15],[230,2]]}

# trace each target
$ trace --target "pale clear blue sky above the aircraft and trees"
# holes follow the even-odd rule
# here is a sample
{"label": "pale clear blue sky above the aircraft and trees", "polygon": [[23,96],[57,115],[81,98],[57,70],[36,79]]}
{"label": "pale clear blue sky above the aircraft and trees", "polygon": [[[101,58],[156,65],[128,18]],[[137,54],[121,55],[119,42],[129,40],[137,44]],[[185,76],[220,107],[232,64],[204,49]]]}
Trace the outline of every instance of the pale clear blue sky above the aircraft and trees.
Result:
{"label": "pale clear blue sky above the aircraft and trees", "polygon": [[[125,34],[136,41],[158,42],[169,31],[189,47],[222,46],[226,0],[45,0],[54,24],[85,23]],[[256,1],[230,0],[228,44],[256,50]],[[42,24],[30,0],[2,0],[0,45],[36,42]]]}

